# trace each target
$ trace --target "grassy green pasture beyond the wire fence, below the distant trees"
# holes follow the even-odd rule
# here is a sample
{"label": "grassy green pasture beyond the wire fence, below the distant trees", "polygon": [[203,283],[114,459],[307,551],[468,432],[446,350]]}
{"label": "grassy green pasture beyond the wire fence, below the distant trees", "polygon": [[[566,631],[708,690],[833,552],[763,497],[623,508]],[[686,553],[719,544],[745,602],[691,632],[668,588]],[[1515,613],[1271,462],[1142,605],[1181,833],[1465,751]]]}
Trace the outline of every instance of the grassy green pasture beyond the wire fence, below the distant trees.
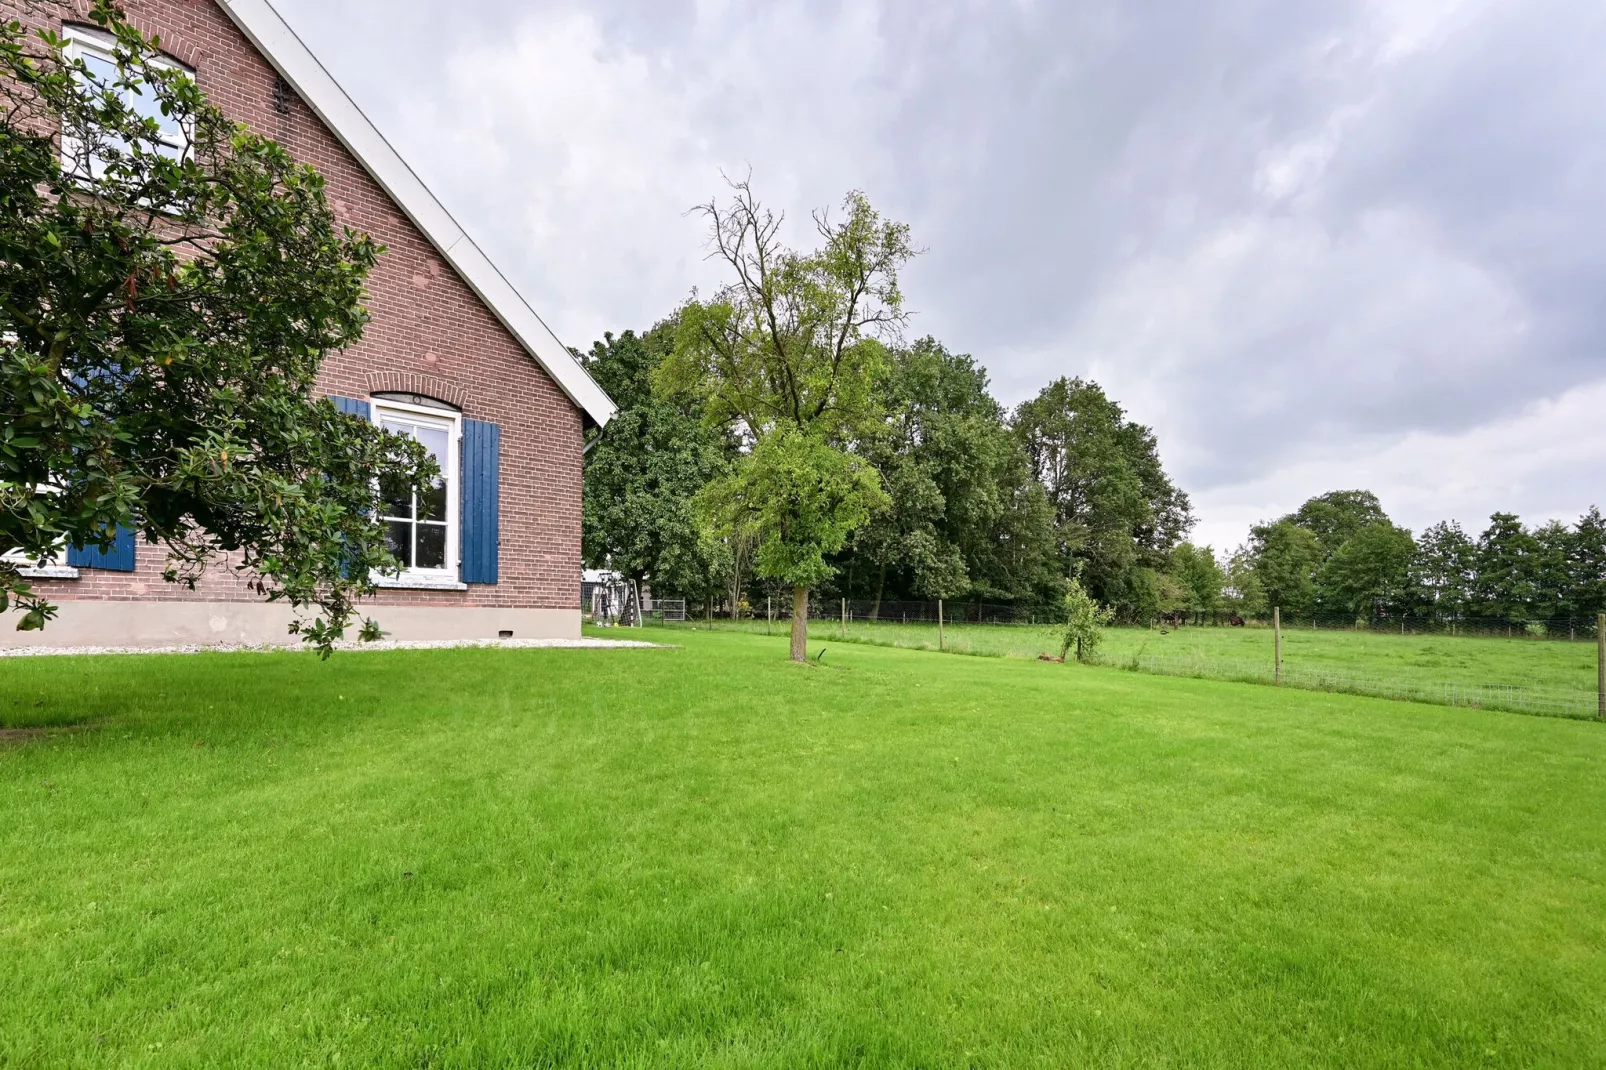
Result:
{"label": "grassy green pasture beyond the wire fence, below the distant trees", "polygon": [[[790,628],[790,599],[776,598],[753,611],[731,620],[715,619],[705,607],[702,620],[691,614],[689,622],[776,635]],[[816,643],[1041,657],[1060,652],[1054,631],[1058,617],[1057,607],[1041,606],[835,599],[809,606],[809,633]],[[1187,641],[1179,643],[1182,638]],[[1412,647],[1412,638],[1429,646]],[[1498,655],[1492,654],[1495,649]],[[1307,617],[1230,627],[1208,619],[1198,623],[1195,615],[1184,623],[1171,619],[1150,628],[1113,628],[1094,662],[1166,676],[1606,720],[1606,627],[1601,617],[1540,622],[1380,619],[1343,625]],[[1445,668],[1458,672],[1450,676]]]}

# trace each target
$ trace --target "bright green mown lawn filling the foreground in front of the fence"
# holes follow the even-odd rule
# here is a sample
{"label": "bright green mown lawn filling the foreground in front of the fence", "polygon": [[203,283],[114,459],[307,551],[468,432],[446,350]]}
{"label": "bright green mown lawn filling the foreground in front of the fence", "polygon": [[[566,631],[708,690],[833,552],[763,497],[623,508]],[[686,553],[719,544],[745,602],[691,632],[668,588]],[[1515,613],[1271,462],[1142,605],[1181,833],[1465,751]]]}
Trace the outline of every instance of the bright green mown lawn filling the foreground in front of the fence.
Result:
{"label": "bright green mown lawn filling the foreground in front of the fence", "polygon": [[646,635],[0,660],[0,1065],[1606,1059],[1600,725]]}

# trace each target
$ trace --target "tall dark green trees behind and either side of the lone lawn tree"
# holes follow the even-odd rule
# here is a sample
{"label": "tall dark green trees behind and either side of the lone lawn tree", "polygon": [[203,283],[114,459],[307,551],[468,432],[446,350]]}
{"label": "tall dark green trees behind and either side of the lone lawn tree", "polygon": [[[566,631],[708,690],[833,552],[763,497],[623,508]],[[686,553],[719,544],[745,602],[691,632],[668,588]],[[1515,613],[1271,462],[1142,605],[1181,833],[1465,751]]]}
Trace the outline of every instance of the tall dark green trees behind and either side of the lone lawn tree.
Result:
{"label": "tall dark green trees behind and either side of the lone lawn tree", "polygon": [[[699,513],[744,443],[695,403],[654,390],[678,326],[609,334],[586,355],[620,411],[586,455],[585,557],[729,612],[784,585],[755,575],[752,537],[721,533]],[[1153,434],[1099,384],[1058,379],[1009,411],[972,357],[925,337],[887,349],[870,400],[878,418],[851,455],[887,501],[825,557],[819,596],[1041,606],[1081,577],[1124,619],[1168,606],[1188,500]]]}

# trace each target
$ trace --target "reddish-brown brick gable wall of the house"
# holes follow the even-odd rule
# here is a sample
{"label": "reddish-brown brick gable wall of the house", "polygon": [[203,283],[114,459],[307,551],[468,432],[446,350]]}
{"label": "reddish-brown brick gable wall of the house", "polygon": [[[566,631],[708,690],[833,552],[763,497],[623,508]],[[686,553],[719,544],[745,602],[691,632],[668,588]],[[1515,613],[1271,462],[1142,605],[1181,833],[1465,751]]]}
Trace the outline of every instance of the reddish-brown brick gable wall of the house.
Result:
{"label": "reddish-brown brick gable wall of the house", "polygon": [[[329,357],[328,394],[429,394],[466,416],[501,426],[499,583],[467,591],[381,591],[379,604],[458,604],[577,609],[580,606],[581,416],[495,315],[435,252],[350,153],[300,100],[273,106],[275,72],[212,0],[124,0],[130,19],[194,67],[225,114],[273,137],[328,180],[342,223],[384,243],[369,278],[373,320],[363,341]],[[42,24],[84,21],[82,0],[50,5],[0,0],[0,18]],[[308,42],[316,53],[320,42]],[[334,47],[334,45],[331,45]],[[85,569],[79,580],[43,580],[56,599],[207,599],[257,596],[212,569],[196,591],[162,582],[164,553],[143,541],[133,574]]]}

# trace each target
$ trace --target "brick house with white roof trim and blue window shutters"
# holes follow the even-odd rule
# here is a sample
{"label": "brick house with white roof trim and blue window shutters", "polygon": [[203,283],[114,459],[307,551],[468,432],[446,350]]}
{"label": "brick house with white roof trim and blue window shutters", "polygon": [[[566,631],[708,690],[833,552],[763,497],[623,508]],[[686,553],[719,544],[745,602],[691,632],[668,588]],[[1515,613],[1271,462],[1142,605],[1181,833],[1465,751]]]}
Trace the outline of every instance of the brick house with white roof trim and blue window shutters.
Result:
{"label": "brick house with white roof trim and blue window shutters", "polygon": [[[268,0],[124,0],[230,117],[328,180],[337,218],[387,252],[369,278],[363,341],[320,386],[345,411],[424,442],[445,493],[390,508],[410,566],[365,609],[402,639],[580,633],[581,437],[613,403],[464,235],[284,24]],[[53,24],[85,59],[103,39],[82,0],[0,0],[0,18]],[[212,567],[194,591],[165,553],[125,533],[27,572],[61,606],[43,633],[0,644],[284,643],[289,611]]]}

